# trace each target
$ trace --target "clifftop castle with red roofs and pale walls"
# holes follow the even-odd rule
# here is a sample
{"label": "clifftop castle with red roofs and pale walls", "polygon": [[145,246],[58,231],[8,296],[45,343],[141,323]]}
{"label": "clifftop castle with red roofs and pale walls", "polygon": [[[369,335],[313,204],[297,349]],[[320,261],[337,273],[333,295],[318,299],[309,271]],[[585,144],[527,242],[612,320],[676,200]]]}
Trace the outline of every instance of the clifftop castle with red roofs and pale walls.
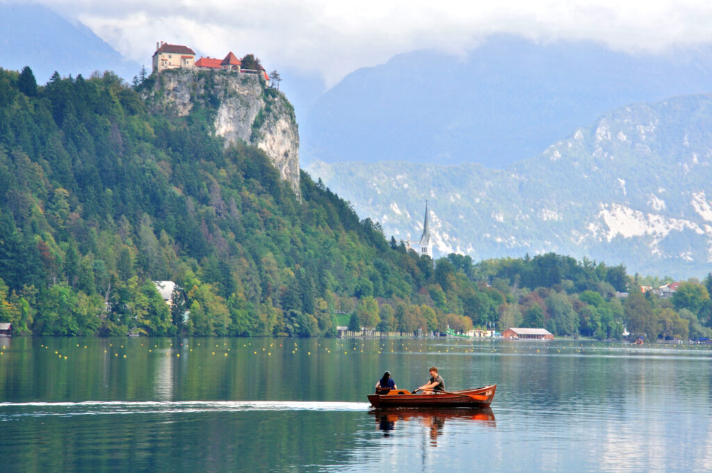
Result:
{"label": "clifftop castle with red roofs and pale walls", "polygon": [[[246,61],[249,58],[248,61]],[[246,67],[243,67],[245,61]],[[199,58],[195,60],[195,51],[181,44],[168,44],[163,41],[156,43],[153,53],[153,72],[160,73],[168,69],[201,69],[205,71],[230,71],[236,74],[254,74],[261,76],[266,83],[270,82],[265,69],[251,55],[238,59],[232,51],[223,59]]]}

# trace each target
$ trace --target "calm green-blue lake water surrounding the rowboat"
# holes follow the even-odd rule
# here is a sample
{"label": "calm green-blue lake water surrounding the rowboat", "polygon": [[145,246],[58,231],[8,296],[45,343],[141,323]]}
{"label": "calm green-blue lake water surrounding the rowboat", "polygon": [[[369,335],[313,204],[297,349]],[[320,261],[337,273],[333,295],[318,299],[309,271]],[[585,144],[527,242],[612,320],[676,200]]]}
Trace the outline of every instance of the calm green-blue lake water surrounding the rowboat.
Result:
{"label": "calm green-blue lake water surrounding the rowboat", "polygon": [[[712,350],[579,341],[0,338],[2,472],[710,472]],[[497,383],[488,411],[375,412]]]}

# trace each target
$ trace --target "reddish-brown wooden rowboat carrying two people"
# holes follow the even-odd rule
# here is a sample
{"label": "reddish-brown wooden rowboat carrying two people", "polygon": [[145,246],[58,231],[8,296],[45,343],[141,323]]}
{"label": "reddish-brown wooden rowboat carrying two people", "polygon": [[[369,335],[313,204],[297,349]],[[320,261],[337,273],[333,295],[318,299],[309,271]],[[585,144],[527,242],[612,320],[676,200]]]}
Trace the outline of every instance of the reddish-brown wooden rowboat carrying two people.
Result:
{"label": "reddish-brown wooden rowboat carrying two people", "polygon": [[497,385],[441,394],[413,394],[406,389],[390,390],[387,394],[368,397],[373,407],[489,407]]}

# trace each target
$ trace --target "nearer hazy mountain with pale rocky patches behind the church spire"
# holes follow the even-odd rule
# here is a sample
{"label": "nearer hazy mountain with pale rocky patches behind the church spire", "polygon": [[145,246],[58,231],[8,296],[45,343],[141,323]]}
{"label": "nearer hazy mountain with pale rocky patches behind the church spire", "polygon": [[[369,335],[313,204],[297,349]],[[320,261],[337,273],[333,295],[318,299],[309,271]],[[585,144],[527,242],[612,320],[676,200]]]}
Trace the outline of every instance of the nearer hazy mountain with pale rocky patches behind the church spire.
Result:
{"label": "nearer hazy mountain with pale rocky patches behind the church spire", "polygon": [[417,239],[429,199],[436,250],[475,259],[556,251],[632,271],[712,261],[712,95],[628,105],[507,170],[404,162],[317,163],[315,177]]}

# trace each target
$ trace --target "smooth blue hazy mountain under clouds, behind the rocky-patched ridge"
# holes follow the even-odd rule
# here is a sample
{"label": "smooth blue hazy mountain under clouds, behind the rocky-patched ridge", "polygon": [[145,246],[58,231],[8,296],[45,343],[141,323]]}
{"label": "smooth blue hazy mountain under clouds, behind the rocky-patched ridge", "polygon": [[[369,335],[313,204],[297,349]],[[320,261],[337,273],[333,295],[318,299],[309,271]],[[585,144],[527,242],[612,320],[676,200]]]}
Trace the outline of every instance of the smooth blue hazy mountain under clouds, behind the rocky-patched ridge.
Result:
{"label": "smooth blue hazy mountain under clouds, behind the rocky-patched ridge", "polygon": [[303,162],[478,162],[504,168],[627,103],[711,90],[712,48],[660,55],[491,36],[465,57],[395,56],[300,113]]}

